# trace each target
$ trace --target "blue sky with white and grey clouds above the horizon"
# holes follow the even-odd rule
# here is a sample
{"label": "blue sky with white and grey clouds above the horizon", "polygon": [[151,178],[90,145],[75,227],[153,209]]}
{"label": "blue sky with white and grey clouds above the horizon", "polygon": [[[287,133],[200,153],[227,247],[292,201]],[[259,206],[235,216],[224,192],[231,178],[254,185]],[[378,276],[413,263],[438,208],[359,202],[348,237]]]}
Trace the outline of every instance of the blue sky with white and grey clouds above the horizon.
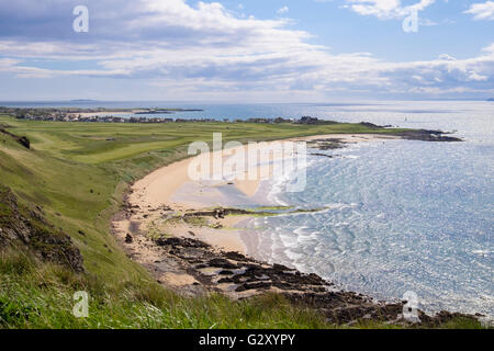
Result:
{"label": "blue sky with white and grey clouds above the horizon", "polygon": [[485,0],[0,0],[0,101],[485,99],[493,33]]}

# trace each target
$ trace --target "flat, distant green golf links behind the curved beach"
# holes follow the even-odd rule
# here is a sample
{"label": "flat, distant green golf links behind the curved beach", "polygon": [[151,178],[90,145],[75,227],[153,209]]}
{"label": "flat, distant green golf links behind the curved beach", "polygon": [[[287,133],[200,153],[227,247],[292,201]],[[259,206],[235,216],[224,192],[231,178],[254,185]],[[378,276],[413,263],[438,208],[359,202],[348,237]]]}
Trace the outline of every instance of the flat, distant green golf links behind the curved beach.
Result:
{"label": "flat, distant green golf links behind the curved beach", "polygon": [[34,122],[0,117],[0,123],[26,135],[36,150],[53,156],[103,163],[132,158],[149,151],[171,150],[194,140],[212,139],[213,133],[223,133],[228,140],[273,140],[294,136],[330,133],[396,133],[398,129],[372,129],[361,124],[255,124],[255,123],[63,123]]}

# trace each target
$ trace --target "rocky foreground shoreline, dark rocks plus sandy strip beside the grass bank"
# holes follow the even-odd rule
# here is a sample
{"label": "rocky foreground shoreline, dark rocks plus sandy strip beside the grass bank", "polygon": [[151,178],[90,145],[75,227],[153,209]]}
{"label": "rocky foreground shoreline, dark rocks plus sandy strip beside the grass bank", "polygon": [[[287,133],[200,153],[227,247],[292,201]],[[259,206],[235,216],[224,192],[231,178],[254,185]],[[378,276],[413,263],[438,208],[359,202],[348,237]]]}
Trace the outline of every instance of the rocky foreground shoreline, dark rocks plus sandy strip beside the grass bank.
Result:
{"label": "rocky foreground shoreline, dark rocks plus sandy strip beside the grass bank", "polygon": [[[114,219],[131,218],[138,208],[127,204]],[[204,215],[216,215],[212,211]],[[281,264],[268,264],[239,252],[220,250],[190,237],[150,238],[141,231],[138,223],[131,223],[130,233],[123,236],[114,230],[128,257],[148,269],[158,283],[179,294],[200,296],[209,293],[224,294],[233,299],[250,298],[260,294],[277,293],[293,304],[314,308],[336,325],[380,321],[392,325],[439,326],[457,317],[476,319],[475,316],[440,312],[429,316],[417,310],[418,321],[404,318],[406,302],[383,302],[346,292],[334,283],[311,273]],[[193,236],[193,233],[189,233]]]}

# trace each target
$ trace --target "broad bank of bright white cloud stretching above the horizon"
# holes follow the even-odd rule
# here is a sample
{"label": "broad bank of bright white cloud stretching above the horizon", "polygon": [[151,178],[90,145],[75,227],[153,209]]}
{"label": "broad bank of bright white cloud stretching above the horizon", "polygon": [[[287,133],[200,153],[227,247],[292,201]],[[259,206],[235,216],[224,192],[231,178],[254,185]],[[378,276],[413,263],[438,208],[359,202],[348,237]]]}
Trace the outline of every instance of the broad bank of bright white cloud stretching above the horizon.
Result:
{"label": "broad bank of bright white cloud stretching above the horizon", "polygon": [[[388,7],[383,7],[385,1],[368,2],[380,2],[382,13],[403,9],[400,1],[390,0]],[[122,13],[100,15],[112,15],[119,19],[116,22],[98,22],[94,13],[91,29],[100,32],[90,32],[89,41],[0,36],[0,54],[11,57],[0,60],[0,72],[23,78],[142,79],[182,94],[240,97],[266,91],[285,97],[330,91],[447,93],[458,91],[458,87],[487,91],[494,80],[494,44],[467,59],[444,54],[431,60],[392,63],[368,53],[332,53],[328,47],[311,44],[311,35],[291,29],[288,20],[242,19],[216,2],[192,7],[183,0],[139,0],[115,9]],[[94,67],[36,68],[32,58],[76,64],[85,60],[94,63]]]}

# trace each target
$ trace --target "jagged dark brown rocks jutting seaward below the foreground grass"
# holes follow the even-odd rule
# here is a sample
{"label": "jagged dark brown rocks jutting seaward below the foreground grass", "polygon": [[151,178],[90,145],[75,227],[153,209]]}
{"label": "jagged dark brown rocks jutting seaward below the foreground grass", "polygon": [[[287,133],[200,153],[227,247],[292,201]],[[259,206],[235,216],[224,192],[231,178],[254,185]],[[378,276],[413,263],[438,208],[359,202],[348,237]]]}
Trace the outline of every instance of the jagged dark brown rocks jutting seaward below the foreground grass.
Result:
{"label": "jagged dark brown rocks jutting seaward below the foreground grass", "polygon": [[[280,293],[293,304],[324,313],[328,321],[338,325],[366,320],[411,324],[403,318],[406,302],[378,302],[362,294],[341,291],[316,274],[304,274],[281,264],[268,264],[239,252],[218,251],[191,238],[161,238],[155,244],[161,249],[164,261],[180,262],[178,265],[194,278],[195,291],[220,292],[234,298],[248,298],[267,292]],[[202,290],[198,290],[198,285]],[[191,287],[188,291],[192,291]],[[448,312],[428,316],[418,310],[420,322],[430,327],[459,316],[474,318]]]}

